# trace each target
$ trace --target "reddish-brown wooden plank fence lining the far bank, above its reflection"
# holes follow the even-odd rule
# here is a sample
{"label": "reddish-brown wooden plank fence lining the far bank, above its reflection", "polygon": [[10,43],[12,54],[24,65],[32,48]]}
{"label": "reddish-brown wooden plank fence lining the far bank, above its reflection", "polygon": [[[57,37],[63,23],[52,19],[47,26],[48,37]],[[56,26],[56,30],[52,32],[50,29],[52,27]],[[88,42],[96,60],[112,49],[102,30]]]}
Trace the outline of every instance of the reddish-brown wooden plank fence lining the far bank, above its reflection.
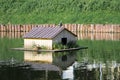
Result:
{"label": "reddish-brown wooden plank fence lining the far bank, above its reflection", "polygon": [[[28,32],[33,27],[55,27],[55,24],[0,25],[0,32]],[[120,24],[63,24],[63,27],[77,32],[120,32]]]}

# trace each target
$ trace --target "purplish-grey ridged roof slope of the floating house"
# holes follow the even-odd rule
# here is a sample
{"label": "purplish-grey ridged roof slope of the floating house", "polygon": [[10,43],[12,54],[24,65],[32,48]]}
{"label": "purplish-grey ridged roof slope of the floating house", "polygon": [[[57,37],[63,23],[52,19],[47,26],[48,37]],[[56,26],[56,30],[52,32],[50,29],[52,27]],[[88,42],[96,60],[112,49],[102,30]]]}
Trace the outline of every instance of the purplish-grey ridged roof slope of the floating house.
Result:
{"label": "purplish-grey ridged roof slope of the floating house", "polygon": [[54,38],[64,27],[35,27],[24,38]]}

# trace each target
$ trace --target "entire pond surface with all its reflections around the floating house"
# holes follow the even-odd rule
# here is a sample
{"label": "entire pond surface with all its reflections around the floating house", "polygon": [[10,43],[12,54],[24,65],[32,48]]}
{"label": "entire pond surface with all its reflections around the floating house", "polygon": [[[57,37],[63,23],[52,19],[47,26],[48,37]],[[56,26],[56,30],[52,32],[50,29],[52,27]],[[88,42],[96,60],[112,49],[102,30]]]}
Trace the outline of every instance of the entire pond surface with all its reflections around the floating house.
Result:
{"label": "entire pond surface with all its reflections around the floating house", "polygon": [[88,50],[62,53],[13,51],[23,46],[20,34],[0,34],[0,80],[120,80],[119,33],[79,34]]}

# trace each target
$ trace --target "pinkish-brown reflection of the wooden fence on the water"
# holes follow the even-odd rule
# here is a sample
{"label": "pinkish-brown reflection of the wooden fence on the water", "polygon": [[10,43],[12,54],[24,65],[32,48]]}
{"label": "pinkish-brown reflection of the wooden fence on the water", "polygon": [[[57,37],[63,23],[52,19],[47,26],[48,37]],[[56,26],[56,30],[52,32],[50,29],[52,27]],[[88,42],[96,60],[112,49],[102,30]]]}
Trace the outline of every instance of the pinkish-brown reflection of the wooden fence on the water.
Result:
{"label": "pinkish-brown reflection of the wooden fence on the water", "polygon": [[[21,38],[27,32],[0,32],[0,37]],[[78,39],[89,40],[120,40],[120,33],[80,33],[76,32]]]}

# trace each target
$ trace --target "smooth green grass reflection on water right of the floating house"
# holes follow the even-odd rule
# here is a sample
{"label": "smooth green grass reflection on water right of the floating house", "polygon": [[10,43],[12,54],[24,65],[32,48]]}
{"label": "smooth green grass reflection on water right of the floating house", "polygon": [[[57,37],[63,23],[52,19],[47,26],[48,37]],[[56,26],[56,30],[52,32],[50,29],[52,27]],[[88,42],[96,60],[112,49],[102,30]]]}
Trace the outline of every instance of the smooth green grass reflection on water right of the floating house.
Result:
{"label": "smooth green grass reflection on water right of the floating house", "polygon": [[79,40],[81,46],[87,46],[87,50],[82,50],[78,54],[78,60],[84,58],[89,61],[112,61],[120,62],[120,41],[105,40]]}

